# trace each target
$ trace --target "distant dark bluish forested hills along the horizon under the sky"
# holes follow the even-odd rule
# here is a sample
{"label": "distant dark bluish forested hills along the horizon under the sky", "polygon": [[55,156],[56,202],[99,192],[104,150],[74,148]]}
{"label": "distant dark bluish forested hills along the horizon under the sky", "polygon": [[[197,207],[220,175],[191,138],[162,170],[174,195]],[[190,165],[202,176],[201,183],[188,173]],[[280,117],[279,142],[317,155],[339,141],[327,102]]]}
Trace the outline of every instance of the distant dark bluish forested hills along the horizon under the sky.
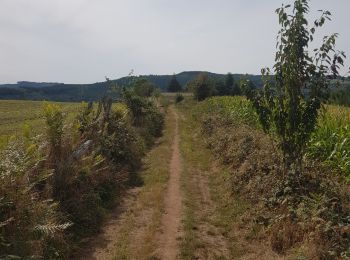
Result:
{"label": "distant dark bluish forested hills along the horizon under the sky", "polygon": [[[186,71],[176,74],[176,78],[182,86],[196,77],[200,71]],[[224,74],[208,72],[210,77],[223,79]],[[161,91],[166,91],[168,83],[173,75],[145,75],[139,76],[150,80]],[[260,75],[233,74],[236,80],[245,76],[256,86],[261,85]],[[130,77],[112,80],[119,86],[127,86]],[[20,81],[17,84],[0,85],[0,99],[26,99],[26,100],[52,100],[52,101],[90,101],[97,100],[107,89],[106,82],[92,84],[64,84],[47,82]]]}

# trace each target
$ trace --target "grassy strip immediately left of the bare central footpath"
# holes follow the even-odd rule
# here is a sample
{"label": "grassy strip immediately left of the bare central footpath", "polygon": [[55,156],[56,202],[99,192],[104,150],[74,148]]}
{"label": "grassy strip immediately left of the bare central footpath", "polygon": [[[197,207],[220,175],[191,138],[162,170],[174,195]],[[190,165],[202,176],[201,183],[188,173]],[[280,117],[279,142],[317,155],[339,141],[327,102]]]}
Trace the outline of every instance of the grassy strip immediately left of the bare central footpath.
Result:
{"label": "grassy strip immediately left of the bare central footpath", "polygon": [[[114,259],[150,259],[156,250],[156,235],[161,225],[163,198],[168,181],[168,167],[171,159],[174,134],[174,117],[171,110],[167,113],[165,130],[159,144],[152,149],[144,161],[144,170],[140,173],[143,183],[137,199],[128,205],[123,216]],[[146,226],[142,217],[147,216]],[[142,228],[142,232],[139,232]],[[139,234],[135,234],[138,233]],[[136,246],[135,238],[137,237]]]}

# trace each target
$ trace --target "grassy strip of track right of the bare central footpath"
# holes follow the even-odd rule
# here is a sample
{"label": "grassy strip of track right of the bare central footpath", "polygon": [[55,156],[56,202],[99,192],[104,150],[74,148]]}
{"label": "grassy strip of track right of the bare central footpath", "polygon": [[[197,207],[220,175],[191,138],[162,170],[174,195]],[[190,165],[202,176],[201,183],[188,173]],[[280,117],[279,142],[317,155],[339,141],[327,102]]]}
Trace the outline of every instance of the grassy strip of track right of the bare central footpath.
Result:
{"label": "grassy strip of track right of the bare central footpath", "polygon": [[[185,205],[181,258],[236,258],[244,253],[244,247],[234,230],[249,204],[233,196],[230,172],[214,161],[206,147],[200,122],[191,115],[193,105],[186,102],[178,107]],[[207,186],[209,202],[203,198],[206,197],[205,188],[203,191],[202,185],[198,185],[201,181]]]}

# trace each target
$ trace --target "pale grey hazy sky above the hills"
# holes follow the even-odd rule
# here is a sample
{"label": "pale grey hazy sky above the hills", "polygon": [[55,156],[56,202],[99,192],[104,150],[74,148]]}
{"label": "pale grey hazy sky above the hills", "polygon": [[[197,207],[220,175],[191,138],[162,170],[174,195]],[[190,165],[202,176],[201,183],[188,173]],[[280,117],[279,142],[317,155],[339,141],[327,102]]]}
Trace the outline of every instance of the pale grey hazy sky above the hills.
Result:
{"label": "pale grey hazy sky above the hills", "polygon": [[[273,64],[274,10],[290,2],[0,0],[0,83],[91,83],[132,69],[258,74]],[[322,33],[338,32],[350,58],[350,1],[312,0],[311,8],[332,12]]]}

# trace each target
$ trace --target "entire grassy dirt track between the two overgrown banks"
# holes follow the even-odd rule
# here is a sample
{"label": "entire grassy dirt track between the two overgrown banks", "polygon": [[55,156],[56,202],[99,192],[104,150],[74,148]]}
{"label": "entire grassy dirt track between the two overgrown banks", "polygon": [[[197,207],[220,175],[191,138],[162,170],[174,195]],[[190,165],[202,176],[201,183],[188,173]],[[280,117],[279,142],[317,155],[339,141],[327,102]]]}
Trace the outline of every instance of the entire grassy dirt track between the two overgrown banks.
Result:
{"label": "entire grassy dirt track between the two overgrown banks", "polygon": [[248,206],[231,196],[230,171],[217,165],[186,112],[168,108],[163,137],[139,173],[143,185],[126,193],[74,259],[283,259],[244,237]]}

